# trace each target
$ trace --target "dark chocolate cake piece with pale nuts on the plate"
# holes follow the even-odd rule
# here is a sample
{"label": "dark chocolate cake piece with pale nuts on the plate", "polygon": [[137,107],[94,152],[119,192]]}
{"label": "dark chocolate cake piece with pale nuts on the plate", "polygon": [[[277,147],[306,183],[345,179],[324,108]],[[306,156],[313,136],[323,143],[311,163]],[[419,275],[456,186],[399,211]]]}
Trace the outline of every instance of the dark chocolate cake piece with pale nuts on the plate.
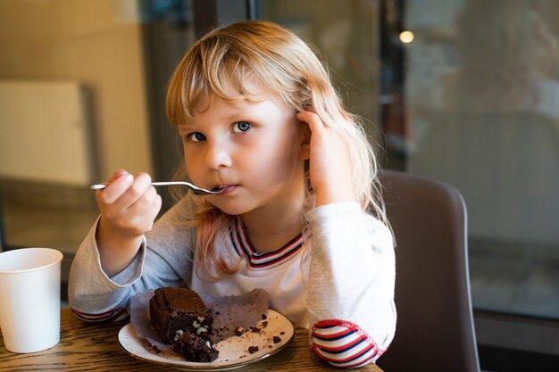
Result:
{"label": "dark chocolate cake piece with pale nuts on the plate", "polygon": [[200,296],[188,288],[163,287],[149,301],[150,321],[163,343],[188,361],[212,361],[213,316]]}

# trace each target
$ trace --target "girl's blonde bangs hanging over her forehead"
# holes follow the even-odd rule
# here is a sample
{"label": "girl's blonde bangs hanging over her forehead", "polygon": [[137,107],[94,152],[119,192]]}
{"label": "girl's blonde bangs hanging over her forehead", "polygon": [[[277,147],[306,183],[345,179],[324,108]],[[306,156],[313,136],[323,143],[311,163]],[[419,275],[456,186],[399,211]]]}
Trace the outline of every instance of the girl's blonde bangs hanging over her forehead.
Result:
{"label": "girl's blonde bangs hanging over her forehead", "polygon": [[[299,108],[305,86],[288,73],[285,58],[264,55],[240,40],[214,35],[201,39],[174,71],[167,92],[167,116],[178,127],[192,120],[195,107],[206,110],[214,96],[225,101],[258,101],[265,95]],[[198,106],[201,105],[201,106]]]}

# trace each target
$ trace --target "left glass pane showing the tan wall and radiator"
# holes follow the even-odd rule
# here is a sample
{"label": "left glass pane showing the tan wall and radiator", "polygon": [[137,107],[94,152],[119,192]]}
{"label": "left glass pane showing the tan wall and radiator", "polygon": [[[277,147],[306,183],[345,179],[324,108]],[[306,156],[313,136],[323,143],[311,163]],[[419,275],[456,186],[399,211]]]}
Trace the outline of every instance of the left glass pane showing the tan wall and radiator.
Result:
{"label": "left glass pane showing the tan wall and radiator", "polygon": [[71,260],[98,214],[89,185],[153,174],[151,133],[168,125],[164,85],[191,19],[182,0],[0,1],[4,249]]}

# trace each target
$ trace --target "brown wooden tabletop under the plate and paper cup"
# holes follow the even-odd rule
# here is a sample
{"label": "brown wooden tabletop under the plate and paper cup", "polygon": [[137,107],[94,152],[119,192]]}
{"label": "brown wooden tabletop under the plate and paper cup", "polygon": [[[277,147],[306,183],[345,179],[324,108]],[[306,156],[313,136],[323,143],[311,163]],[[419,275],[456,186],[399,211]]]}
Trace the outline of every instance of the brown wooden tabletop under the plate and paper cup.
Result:
{"label": "brown wooden tabletop under the plate and paper cup", "polygon": [[[16,354],[4,347],[0,337],[0,371],[168,371],[165,366],[136,360],[121,351],[116,337],[125,323],[87,324],[62,310],[61,341],[53,348],[29,354]],[[357,371],[382,370],[374,364]],[[286,348],[269,358],[254,362],[239,372],[249,371],[340,371],[319,360],[308,346],[308,331],[296,327],[294,341]]]}

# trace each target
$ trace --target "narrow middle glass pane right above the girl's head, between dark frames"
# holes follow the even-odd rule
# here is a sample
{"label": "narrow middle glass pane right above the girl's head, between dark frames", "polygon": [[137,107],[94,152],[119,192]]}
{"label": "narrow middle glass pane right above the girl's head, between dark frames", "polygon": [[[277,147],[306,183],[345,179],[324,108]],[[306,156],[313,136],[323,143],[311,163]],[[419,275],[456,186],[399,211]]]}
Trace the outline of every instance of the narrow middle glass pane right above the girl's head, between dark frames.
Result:
{"label": "narrow middle glass pane right above the girl's head, between dark frames", "polygon": [[349,111],[361,115],[379,142],[379,2],[375,0],[263,0],[260,18],[294,30],[315,47]]}

